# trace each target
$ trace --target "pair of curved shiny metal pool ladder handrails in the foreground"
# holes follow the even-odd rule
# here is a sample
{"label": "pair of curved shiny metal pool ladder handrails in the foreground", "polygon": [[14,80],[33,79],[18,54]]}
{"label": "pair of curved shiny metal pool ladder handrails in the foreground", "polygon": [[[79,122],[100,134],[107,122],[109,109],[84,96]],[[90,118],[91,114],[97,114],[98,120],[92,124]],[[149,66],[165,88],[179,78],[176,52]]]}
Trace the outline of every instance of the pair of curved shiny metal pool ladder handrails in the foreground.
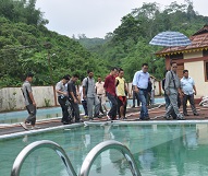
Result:
{"label": "pair of curved shiny metal pool ladder handrails in the foreground", "polygon": [[[68,174],[70,176],[77,176],[65,151],[59,144],[57,144],[56,142],[49,141],[49,140],[36,141],[36,142],[28,144],[26,148],[24,148],[14,161],[14,164],[13,164],[13,167],[11,171],[11,176],[20,176],[21,167],[22,167],[24,161],[26,160],[26,157],[32,152],[34,152],[35,150],[40,149],[40,148],[49,148],[49,149],[52,149],[53,151],[56,151],[57,154],[61,157],[63,164],[65,165]],[[101,142],[101,143],[97,144],[94,149],[91,149],[83,162],[78,176],[88,176],[90,167],[91,167],[94,161],[96,160],[96,157],[100,153],[102,153],[103,151],[109,150],[109,149],[115,149],[115,150],[120,151],[127,160],[132,175],[140,176],[136,162],[135,162],[132,153],[130,152],[130,150],[122,143],[114,141],[114,140]]]}

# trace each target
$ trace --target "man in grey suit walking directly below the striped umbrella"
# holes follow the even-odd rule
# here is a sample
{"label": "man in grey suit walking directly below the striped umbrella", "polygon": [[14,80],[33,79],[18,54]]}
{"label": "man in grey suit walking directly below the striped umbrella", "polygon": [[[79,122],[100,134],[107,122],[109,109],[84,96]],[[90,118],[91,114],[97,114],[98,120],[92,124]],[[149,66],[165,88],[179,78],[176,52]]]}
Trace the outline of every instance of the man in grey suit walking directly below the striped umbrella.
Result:
{"label": "man in grey suit walking directly below the striped umbrella", "polygon": [[167,108],[164,118],[170,119],[170,115],[174,110],[176,119],[184,120],[185,118],[179,112],[179,106],[178,106],[178,97],[179,94],[180,97],[182,96],[182,92],[181,92],[181,83],[176,74],[176,68],[178,68],[176,62],[171,62],[171,70],[168,71],[166,74],[164,91],[170,99],[170,105]]}

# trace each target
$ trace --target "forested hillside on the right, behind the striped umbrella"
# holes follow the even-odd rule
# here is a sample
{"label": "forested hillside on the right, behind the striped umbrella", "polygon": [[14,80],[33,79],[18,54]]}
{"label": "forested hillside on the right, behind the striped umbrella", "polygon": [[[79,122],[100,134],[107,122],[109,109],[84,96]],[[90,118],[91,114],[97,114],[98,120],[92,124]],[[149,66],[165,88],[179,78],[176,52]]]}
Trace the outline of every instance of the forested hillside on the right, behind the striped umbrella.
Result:
{"label": "forested hillside on the right, behind the striped umbrella", "polygon": [[144,3],[134,9],[122,17],[121,25],[113,33],[108,33],[108,40],[102,46],[87,48],[111,64],[122,67],[127,81],[132,80],[143,62],[149,63],[151,74],[162,79],[164,59],[154,55],[161,47],[149,45],[150,39],[164,31],[182,32],[189,37],[208,23],[208,16],[199,15],[189,0],[184,4],[172,2],[162,10],[159,7],[158,3]]}

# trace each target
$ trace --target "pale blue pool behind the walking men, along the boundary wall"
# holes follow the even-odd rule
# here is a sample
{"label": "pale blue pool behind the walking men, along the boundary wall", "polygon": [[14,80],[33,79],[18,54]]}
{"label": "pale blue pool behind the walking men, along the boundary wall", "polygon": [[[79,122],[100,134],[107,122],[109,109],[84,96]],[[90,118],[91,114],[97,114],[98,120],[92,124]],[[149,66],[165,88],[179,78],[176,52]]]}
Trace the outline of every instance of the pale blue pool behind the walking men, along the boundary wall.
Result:
{"label": "pale blue pool behind the walking men, along the boundary wall", "polygon": [[[164,103],[163,98],[156,98],[156,104]],[[129,99],[127,102],[129,107],[132,106],[132,99]],[[107,106],[109,107],[109,103],[107,103]],[[83,106],[79,105],[79,112],[81,114],[84,113]],[[25,120],[27,117],[26,110],[21,112],[11,112],[11,113],[0,113],[0,124],[17,124]],[[37,120],[41,119],[50,119],[56,117],[61,117],[61,107],[52,107],[52,108],[41,108],[37,110]]]}

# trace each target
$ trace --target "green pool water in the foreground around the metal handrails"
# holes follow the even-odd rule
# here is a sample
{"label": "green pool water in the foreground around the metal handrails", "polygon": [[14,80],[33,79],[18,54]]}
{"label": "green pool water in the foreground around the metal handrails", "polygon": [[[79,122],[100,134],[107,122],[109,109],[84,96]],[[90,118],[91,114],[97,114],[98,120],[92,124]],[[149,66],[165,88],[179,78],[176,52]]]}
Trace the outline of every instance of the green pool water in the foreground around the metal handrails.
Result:
{"label": "green pool water in the foreground around the metal handrails", "polygon": [[[76,127],[0,140],[0,175],[9,176],[19,152],[37,140],[52,140],[68,153],[78,174],[86,154],[106,140],[124,143],[133,153],[142,176],[207,176],[208,124],[111,125]],[[38,149],[25,161],[21,176],[66,176],[57,154]],[[114,150],[106,151],[91,167],[90,176],[131,176],[127,163]]]}

